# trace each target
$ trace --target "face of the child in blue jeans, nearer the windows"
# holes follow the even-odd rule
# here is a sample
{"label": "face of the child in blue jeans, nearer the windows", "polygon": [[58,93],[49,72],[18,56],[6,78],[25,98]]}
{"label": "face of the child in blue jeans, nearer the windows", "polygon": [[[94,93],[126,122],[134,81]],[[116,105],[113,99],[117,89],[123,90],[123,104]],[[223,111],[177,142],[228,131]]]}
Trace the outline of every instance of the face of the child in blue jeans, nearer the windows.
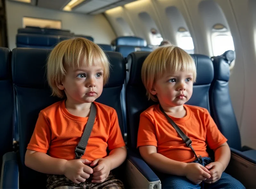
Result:
{"label": "face of the child in blue jeans, nearer the windows", "polygon": [[156,95],[160,104],[167,107],[183,105],[193,92],[193,73],[166,72],[162,78],[156,80],[151,94]]}

